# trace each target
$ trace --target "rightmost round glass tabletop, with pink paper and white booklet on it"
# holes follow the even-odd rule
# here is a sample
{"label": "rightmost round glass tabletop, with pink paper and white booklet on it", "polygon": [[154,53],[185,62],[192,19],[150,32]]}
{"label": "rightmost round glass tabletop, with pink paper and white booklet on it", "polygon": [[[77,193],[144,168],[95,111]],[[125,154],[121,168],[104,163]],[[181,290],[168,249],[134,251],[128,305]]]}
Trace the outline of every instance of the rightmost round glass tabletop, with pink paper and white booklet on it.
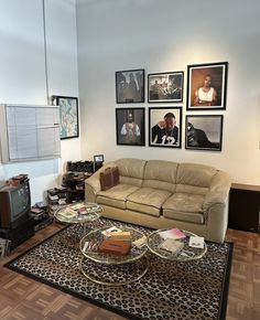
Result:
{"label": "rightmost round glass tabletop, with pink paper and white booklet on it", "polygon": [[207,245],[204,243],[203,248],[191,247],[188,245],[191,236],[197,236],[196,234],[182,230],[186,237],[181,239],[175,239],[175,242],[182,243],[182,249],[180,249],[176,254],[167,252],[161,248],[162,243],[165,241],[160,233],[166,230],[156,230],[152,232],[147,239],[147,245],[150,252],[155,254],[156,256],[169,259],[169,260],[177,260],[177,262],[189,262],[195,259],[201,259],[207,252]]}

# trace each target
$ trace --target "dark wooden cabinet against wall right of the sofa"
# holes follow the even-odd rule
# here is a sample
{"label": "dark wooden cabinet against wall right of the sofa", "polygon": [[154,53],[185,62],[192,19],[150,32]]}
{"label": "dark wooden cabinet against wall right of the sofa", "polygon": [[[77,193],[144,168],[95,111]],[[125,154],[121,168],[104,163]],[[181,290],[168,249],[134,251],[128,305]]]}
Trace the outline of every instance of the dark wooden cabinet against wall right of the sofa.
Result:
{"label": "dark wooden cabinet against wall right of the sofa", "polygon": [[232,183],[228,227],[259,232],[260,186]]}

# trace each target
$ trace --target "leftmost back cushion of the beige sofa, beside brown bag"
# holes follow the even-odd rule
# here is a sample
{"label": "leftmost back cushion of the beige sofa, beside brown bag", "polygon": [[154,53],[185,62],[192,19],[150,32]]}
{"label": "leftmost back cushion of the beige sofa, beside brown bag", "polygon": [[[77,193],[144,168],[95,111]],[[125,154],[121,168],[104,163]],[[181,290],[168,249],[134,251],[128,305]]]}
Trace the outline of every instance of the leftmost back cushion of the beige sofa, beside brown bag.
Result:
{"label": "leftmost back cushion of the beige sofa, beside brown bag", "polygon": [[120,183],[142,185],[145,160],[119,159],[116,162],[119,169]]}

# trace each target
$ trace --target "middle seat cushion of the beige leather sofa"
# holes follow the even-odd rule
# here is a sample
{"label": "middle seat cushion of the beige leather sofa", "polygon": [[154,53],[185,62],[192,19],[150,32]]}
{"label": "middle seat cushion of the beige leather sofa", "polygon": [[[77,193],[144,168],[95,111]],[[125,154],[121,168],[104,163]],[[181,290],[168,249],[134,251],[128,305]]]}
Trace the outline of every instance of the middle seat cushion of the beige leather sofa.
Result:
{"label": "middle seat cushion of the beige leather sofa", "polygon": [[128,196],[127,209],[160,216],[162,204],[171,194],[171,192],[165,190],[140,188]]}

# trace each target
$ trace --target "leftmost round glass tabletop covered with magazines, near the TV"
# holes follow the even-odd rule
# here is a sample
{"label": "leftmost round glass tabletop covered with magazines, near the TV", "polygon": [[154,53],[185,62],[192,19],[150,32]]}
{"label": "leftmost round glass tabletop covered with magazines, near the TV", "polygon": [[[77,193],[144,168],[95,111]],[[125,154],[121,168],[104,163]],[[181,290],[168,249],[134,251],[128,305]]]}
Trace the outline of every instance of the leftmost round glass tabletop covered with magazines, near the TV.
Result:
{"label": "leftmost round glass tabletop covered with magazines, near the TV", "polygon": [[97,203],[79,201],[59,207],[54,213],[54,216],[61,222],[87,223],[98,220],[101,213],[102,207]]}

